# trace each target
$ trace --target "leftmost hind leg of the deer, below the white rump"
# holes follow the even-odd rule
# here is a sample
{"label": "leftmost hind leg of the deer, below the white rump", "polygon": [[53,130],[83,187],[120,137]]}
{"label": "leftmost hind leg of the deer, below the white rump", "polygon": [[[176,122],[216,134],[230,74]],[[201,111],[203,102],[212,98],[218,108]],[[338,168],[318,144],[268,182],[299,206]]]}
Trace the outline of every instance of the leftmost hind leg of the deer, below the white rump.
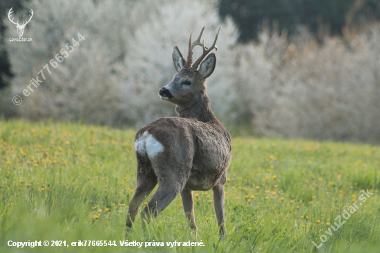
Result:
{"label": "leftmost hind leg of the deer, below the white rump", "polygon": [[137,158],[137,180],[135,194],[129,203],[129,209],[126,215],[127,230],[131,229],[135,221],[138,209],[145,198],[153,191],[157,185],[157,177],[149,162]]}

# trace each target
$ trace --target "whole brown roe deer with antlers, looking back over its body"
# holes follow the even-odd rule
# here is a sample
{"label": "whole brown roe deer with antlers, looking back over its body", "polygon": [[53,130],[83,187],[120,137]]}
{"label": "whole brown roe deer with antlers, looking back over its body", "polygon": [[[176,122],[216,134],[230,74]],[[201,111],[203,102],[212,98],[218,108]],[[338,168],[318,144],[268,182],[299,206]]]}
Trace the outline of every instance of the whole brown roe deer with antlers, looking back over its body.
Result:
{"label": "whole brown roe deer with antlers, looking back over its body", "polygon": [[[126,216],[128,231],[141,203],[158,183],[157,191],[141,213],[143,221],[157,216],[181,194],[190,227],[196,230],[192,191],[213,189],[219,234],[227,234],[223,185],[231,162],[231,135],[213,115],[206,95],[206,79],[215,69],[215,54],[209,54],[202,62],[211,50],[217,49],[215,44],[220,28],[210,48],[206,48],[204,42],[200,43],[204,29],[192,44],[190,35],[187,60],[178,46],[173,47],[173,62],[178,73],[160,89],[162,100],[175,104],[179,117],[155,120],[135,135],[137,180]],[[203,53],[191,65],[193,48],[197,45],[202,46]]]}

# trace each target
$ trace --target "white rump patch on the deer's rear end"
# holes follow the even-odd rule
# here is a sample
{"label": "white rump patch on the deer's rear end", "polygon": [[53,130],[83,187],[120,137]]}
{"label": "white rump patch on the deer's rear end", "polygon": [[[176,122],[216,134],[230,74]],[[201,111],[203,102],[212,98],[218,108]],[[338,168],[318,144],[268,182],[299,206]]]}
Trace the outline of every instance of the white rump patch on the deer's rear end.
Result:
{"label": "white rump patch on the deer's rear end", "polygon": [[155,157],[158,153],[164,151],[164,146],[155,140],[153,135],[145,131],[140,137],[135,141],[135,151],[138,153],[147,153],[149,158]]}

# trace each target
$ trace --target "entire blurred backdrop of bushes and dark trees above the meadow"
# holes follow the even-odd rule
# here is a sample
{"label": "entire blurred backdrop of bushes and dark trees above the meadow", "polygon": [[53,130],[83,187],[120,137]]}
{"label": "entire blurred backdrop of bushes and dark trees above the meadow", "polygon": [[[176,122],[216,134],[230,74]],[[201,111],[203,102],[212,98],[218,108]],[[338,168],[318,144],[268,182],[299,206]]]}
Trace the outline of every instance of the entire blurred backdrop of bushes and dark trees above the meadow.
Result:
{"label": "entire blurred backdrop of bushes and dark trees above the meadow", "polygon": [[[11,7],[20,20],[35,11],[32,43],[9,41]],[[185,53],[202,26],[207,45],[222,26],[207,85],[234,135],[380,142],[379,0],[1,0],[0,17],[2,118],[139,128],[174,116],[157,95],[171,48]],[[77,32],[86,41],[13,105]]]}

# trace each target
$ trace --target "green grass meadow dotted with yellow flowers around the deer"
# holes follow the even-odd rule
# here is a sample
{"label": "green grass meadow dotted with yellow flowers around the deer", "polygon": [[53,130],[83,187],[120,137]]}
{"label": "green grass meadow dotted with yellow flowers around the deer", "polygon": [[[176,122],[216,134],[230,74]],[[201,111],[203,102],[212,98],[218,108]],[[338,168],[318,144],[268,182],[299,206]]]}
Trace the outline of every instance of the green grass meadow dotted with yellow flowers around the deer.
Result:
{"label": "green grass meadow dotted with yellow flowers around the deer", "polygon": [[[219,241],[212,191],[193,193],[196,238],[180,196],[146,231],[138,215],[126,238],[126,209],[135,189],[134,134],[0,121],[0,252],[380,251],[380,147],[307,140],[234,138],[225,185],[226,238]],[[363,189],[370,192],[365,203],[359,200]],[[359,208],[345,221],[344,210],[354,201]],[[334,231],[330,226],[339,215],[345,223]],[[319,245],[321,238],[325,243],[317,250],[312,242]],[[120,246],[126,239],[142,247]],[[17,248],[8,241],[70,246]],[[117,246],[74,247],[75,241]],[[164,246],[145,247],[153,241]],[[167,247],[173,241],[205,246]]]}

